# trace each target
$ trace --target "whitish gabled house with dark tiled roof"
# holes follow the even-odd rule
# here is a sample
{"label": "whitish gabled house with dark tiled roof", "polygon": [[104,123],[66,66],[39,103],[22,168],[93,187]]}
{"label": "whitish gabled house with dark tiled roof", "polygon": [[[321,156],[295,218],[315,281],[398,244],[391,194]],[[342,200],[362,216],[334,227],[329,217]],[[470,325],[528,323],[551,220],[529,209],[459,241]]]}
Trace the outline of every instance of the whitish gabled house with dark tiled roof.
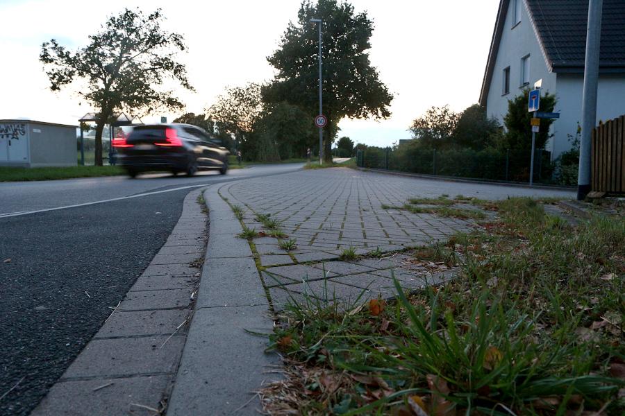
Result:
{"label": "whitish gabled house with dark tiled roof", "polygon": [[[501,0],[480,104],[499,120],[508,100],[542,79],[560,113],[546,150],[555,158],[581,124],[588,0]],[[603,0],[597,122],[625,114],[625,0]]]}

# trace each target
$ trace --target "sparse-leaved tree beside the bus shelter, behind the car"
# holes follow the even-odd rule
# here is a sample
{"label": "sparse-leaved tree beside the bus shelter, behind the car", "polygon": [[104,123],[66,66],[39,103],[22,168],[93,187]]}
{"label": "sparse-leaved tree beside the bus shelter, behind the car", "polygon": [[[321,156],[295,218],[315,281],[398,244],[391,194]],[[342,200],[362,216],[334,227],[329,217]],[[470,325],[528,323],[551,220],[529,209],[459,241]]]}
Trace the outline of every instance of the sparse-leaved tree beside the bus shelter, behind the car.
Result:
{"label": "sparse-leaved tree beside the bus shelter, behind the car", "polygon": [[54,39],[42,44],[44,63],[52,91],[83,79],[78,92],[97,111],[95,164],[102,164],[102,130],[115,112],[150,113],[158,108],[178,110],[183,104],[172,91],[157,89],[173,79],[193,90],[185,66],[174,60],[185,51],[183,37],[164,31],[160,9],[150,15],[127,8],[106,21],[90,43],[72,53]]}

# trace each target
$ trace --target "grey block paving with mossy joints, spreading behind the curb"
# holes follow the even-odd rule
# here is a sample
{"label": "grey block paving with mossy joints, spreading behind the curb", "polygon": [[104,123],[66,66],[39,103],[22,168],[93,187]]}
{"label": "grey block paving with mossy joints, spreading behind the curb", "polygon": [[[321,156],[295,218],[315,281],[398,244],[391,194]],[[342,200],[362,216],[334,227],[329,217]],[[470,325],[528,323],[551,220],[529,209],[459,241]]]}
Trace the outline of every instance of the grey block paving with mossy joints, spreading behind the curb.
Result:
{"label": "grey block paving with mossy joints, spreading behind the curb", "polygon": [[[472,220],[412,214],[401,209],[408,198],[451,198],[462,194],[483,199],[508,196],[559,196],[566,191],[502,187],[498,185],[443,182],[328,168],[298,171],[226,184],[219,189],[223,198],[244,209],[243,222],[260,231],[256,214],[269,214],[281,222],[288,239],[297,249],[286,251],[279,240],[269,236],[254,239],[262,264],[265,285],[274,306],[306,293],[321,300],[356,299],[394,292],[391,270],[406,288],[439,283],[451,272],[428,272],[410,267],[403,254],[390,259],[338,261],[353,248],[356,254],[392,252],[403,248],[445,241],[457,232],[468,232]],[[305,264],[301,264],[305,263]],[[408,265],[408,266],[407,266]]]}

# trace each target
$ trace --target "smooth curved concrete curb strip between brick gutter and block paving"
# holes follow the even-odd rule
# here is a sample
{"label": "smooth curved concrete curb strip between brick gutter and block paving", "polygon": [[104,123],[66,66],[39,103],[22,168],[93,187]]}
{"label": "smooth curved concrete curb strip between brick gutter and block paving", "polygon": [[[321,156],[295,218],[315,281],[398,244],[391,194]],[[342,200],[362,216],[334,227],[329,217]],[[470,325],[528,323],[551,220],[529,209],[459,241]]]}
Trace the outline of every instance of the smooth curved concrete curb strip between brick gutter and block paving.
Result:
{"label": "smooth curved concrete curb strip between brick gutter and block paving", "polygon": [[265,354],[267,338],[253,335],[272,332],[269,302],[249,245],[237,237],[240,222],[218,187],[208,188],[204,200],[206,261],[167,415],[257,415],[254,392],[278,379],[267,370],[280,363]]}

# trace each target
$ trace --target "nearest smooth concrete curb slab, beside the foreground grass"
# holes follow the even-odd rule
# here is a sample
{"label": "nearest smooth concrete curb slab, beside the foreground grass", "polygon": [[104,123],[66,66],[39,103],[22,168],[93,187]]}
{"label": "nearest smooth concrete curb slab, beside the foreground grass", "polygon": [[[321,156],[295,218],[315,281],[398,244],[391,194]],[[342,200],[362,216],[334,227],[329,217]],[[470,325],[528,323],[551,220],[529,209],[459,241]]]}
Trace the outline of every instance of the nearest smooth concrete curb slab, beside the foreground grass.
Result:
{"label": "nearest smooth concrete curb slab, beside the foreground grass", "polygon": [[195,312],[168,416],[257,415],[255,391],[276,379],[278,357],[265,354],[270,333],[266,306],[202,308]]}

